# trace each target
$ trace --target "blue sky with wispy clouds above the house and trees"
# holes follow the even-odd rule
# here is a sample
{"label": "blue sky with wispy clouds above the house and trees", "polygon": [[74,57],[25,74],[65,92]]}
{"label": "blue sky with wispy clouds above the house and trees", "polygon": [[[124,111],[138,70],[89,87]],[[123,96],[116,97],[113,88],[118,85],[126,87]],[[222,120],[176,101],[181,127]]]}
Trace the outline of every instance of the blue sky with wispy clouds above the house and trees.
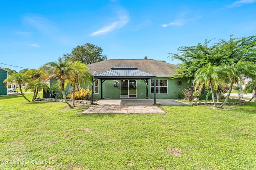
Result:
{"label": "blue sky with wispy clouds above the house and trees", "polygon": [[168,59],[178,47],[255,35],[255,10],[256,0],[5,0],[0,63],[37,69],[92,43],[108,59],[178,64]]}

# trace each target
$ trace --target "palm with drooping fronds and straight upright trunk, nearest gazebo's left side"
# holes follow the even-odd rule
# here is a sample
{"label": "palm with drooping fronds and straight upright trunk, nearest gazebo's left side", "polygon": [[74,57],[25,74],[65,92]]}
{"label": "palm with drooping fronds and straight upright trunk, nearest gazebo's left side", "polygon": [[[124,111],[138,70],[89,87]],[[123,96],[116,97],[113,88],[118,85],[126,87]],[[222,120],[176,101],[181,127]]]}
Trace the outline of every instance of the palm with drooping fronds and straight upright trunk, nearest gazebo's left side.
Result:
{"label": "palm with drooping fronds and straight upright trunk, nearest gazebo's left side", "polygon": [[70,84],[72,85],[72,104],[75,107],[75,90],[78,84],[92,83],[93,75],[88,72],[90,68],[80,61],[74,61],[72,64],[72,74],[70,75]]}

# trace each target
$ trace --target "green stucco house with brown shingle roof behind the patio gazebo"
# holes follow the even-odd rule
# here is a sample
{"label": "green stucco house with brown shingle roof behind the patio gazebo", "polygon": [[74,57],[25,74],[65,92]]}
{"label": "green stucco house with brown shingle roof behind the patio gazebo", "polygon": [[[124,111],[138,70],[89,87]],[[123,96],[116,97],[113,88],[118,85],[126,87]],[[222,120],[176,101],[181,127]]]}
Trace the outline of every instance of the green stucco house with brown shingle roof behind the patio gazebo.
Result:
{"label": "green stucco house with brown shingle roof behind the patio gazebo", "polygon": [[[170,79],[178,65],[149,59],[110,59],[87,64],[94,75],[94,99],[146,99],[154,98],[154,78],[156,78],[157,99],[177,99],[178,93],[191,81]],[[188,83],[187,83],[188,82]],[[50,81],[50,87],[56,80]],[[68,85],[70,86],[70,85]],[[92,88],[92,86],[90,86]],[[68,93],[68,88],[66,89]],[[206,92],[202,97],[205,98]]]}

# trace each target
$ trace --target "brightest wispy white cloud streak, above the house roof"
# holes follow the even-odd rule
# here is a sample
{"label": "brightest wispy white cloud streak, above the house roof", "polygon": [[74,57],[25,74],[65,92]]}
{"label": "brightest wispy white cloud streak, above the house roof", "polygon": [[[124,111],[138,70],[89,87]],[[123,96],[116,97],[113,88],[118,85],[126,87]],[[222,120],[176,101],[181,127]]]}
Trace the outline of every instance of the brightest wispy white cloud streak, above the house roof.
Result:
{"label": "brightest wispy white cloud streak, above the house roof", "polygon": [[114,21],[109,25],[106,25],[103,28],[99,29],[98,31],[91,33],[90,36],[104,35],[110,31],[113,31],[114,29],[122,28],[128,22],[129,22],[128,14],[124,12],[119,12],[117,16],[117,21]]}

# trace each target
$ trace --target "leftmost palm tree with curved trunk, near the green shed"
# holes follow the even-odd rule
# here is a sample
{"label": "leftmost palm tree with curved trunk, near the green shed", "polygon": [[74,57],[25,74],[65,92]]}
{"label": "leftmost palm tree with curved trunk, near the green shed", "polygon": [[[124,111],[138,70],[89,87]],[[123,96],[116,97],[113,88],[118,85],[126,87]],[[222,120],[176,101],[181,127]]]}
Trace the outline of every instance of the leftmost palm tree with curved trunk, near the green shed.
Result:
{"label": "leftmost palm tree with curved trunk, near the green shed", "polygon": [[[22,92],[22,85],[27,82],[29,79],[28,76],[24,75],[23,73],[14,73],[10,76],[8,76],[5,80],[4,80],[4,83],[7,83],[6,86],[8,86],[8,84],[10,83],[17,83],[20,87],[20,93],[22,94],[23,98],[28,100],[23,92]],[[28,102],[30,102],[30,100],[28,100]]]}

